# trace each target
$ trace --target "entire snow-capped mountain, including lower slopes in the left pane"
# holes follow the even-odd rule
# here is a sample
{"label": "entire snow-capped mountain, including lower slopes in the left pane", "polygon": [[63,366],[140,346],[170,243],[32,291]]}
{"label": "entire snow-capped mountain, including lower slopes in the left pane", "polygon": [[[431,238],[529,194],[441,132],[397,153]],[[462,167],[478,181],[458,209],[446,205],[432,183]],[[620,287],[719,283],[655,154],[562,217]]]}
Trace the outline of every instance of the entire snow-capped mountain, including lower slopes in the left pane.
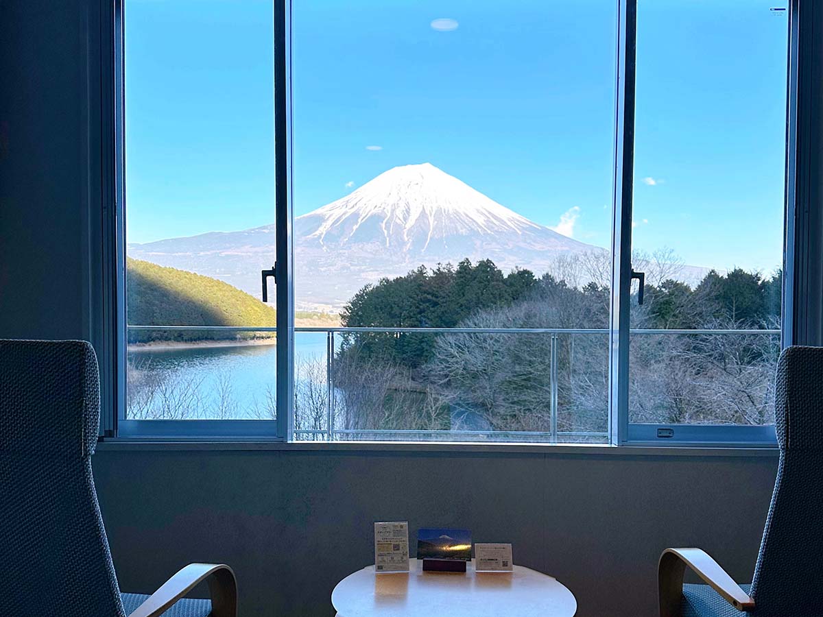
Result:
{"label": "entire snow-capped mountain, including lower slopes in the left pane", "polygon": [[[274,225],[129,244],[128,255],[260,294]],[[294,220],[297,308],[339,309],[366,284],[422,265],[491,259],[541,275],[562,253],[602,252],[518,215],[430,163],[403,165]]]}

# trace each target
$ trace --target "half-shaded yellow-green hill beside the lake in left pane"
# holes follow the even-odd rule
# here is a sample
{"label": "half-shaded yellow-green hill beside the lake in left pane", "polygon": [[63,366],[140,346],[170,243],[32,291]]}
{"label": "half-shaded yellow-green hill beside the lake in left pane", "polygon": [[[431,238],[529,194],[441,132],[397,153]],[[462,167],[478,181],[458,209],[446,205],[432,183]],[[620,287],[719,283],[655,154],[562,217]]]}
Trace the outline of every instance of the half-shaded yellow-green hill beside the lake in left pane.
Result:
{"label": "half-shaded yellow-green hill beside the lake in left pane", "polygon": [[[260,300],[209,276],[126,260],[129,325],[274,327],[277,313]],[[272,337],[265,332],[131,331],[129,342]]]}

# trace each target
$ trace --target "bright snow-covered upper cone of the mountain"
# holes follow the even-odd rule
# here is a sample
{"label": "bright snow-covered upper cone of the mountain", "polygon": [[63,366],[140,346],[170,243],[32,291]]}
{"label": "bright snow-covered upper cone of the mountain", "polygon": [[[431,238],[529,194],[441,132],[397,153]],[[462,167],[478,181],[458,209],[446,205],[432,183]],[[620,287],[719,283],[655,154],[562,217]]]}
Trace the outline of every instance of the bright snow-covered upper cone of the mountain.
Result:
{"label": "bright snow-covered upper cone of the mountain", "polygon": [[300,216],[303,234],[323,245],[373,242],[425,252],[450,235],[534,231],[539,225],[430,163],[394,167],[356,191]]}

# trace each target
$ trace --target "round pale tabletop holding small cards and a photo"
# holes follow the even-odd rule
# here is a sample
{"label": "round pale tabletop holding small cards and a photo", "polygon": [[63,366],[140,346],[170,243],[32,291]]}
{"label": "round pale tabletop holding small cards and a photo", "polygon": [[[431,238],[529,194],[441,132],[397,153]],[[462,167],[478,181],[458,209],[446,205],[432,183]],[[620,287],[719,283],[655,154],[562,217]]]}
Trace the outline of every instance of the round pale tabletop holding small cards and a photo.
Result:
{"label": "round pale tabletop holding small cards and a photo", "polygon": [[375,574],[370,565],[332,591],[337,617],[573,617],[574,595],[556,578],[523,566],[514,572],[423,572],[420,559],[408,573]]}

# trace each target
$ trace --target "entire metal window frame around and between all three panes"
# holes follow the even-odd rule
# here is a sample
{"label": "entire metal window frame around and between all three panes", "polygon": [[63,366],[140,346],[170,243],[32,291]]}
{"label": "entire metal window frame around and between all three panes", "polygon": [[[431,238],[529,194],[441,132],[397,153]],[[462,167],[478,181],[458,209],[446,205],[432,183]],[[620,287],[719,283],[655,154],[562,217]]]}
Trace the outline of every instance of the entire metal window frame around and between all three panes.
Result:
{"label": "entire metal window frame around and between all three panes", "polygon": [[[113,341],[105,352],[102,367],[105,392],[105,437],[227,439],[264,438],[291,442],[294,437],[294,271],[292,244],[292,134],[291,134],[291,0],[272,0],[274,9],[274,101],[275,101],[275,278],[277,297],[277,420],[128,420],[125,417],[126,332],[125,315],[125,148],[124,148],[124,2],[102,2],[102,23],[111,26],[100,29],[104,42],[113,50],[110,56],[101,53],[101,104],[104,165],[103,255],[102,281],[104,299],[100,322],[101,340]],[[821,16],[801,11],[810,0],[791,0],[788,37],[788,105],[785,242],[783,250],[783,318],[781,348],[791,344],[821,343],[821,304],[809,298],[823,291],[820,280],[823,265],[810,258],[823,253],[823,225],[820,207],[814,201],[821,192],[810,190],[816,174],[801,160],[823,160],[820,146],[815,148],[808,130],[814,121],[816,101],[813,95],[821,86],[814,86],[812,77],[823,74],[823,61],[815,57],[813,40],[823,30]],[[612,193],[612,285],[609,326],[610,357],[608,387],[608,439],[613,446],[653,446],[665,448],[726,446],[736,448],[774,448],[774,426],[700,425],[700,424],[636,424],[629,422],[629,308],[631,272],[631,220],[634,181],[635,137],[635,61],[637,0],[616,0],[616,109],[614,128],[614,169]],[[110,11],[110,15],[105,12]],[[105,49],[105,45],[101,45]],[[800,59],[798,59],[800,58]],[[803,63],[805,59],[806,63]],[[806,71],[805,73],[803,71]],[[803,79],[802,79],[803,78]],[[798,81],[802,79],[802,86]],[[816,88],[816,90],[814,90]],[[107,95],[109,93],[109,95]],[[818,107],[821,104],[817,104]],[[108,109],[108,110],[107,110]],[[811,111],[810,111],[811,110]],[[798,139],[802,131],[805,139]],[[278,138],[282,136],[282,138]],[[106,146],[106,144],[110,146]],[[108,159],[107,159],[108,157]],[[113,159],[113,160],[112,160]],[[110,165],[105,165],[106,160]],[[821,168],[823,169],[823,168]],[[105,207],[109,203],[111,207]],[[108,247],[108,248],[107,248]],[[795,256],[802,258],[795,259]],[[816,294],[816,296],[812,296]],[[810,327],[809,324],[812,324]],[[813,324],[817,324],[814,327]],[[102,364],[102,363],[101,363]],[[672,438],[658,437],[658,429],[674,428]],[[351,442],[353,447],[357,443]],[[455,445],[465,442],[453,442]],[[516,447],[518,443],[507,445]],[[526,447],[551,445],[524,443]],[[561,444],[574,445],[574,444]],[[482,447],[482,446],[481,446]]]}

